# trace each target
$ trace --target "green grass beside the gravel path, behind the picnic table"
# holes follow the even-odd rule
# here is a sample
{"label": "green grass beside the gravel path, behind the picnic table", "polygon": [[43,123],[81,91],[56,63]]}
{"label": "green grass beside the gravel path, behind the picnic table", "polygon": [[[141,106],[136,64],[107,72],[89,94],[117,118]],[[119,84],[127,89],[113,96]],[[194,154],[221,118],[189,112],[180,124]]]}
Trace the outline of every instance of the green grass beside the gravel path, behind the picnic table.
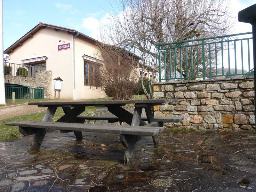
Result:
{"label": "green grass beside the gravel path, behind the picnic table", "polygon": [[[134,95],[133,98],[134,100],[142,100],[146,99],[145,95]],[[105,97],[105,98],[100,98],[100,99],[90,99],[86,101],[107,101],[107,100],[112,100],[112,98]],[[33,101],[42,101],[42,100],[29,100],[26,102],[33,102]],[[43,100],[45,101],[45,99]],[[25,103],[26,103],[25,102]],[[97,108],[99,109],[99,108]],[[96,107],[86,107],[85,111],[81,115],[88,115],[90,111],[95,111]],[[6,140],[10,138],[17,138],[21,137],[22,134],[19,132],[19,128],[16,126],[7,126],[4,125],[5,122],[11,122],[11,121],[42,121],[42,118],[44,117],[45,111],[37,112],[37,113],[31,113],[27,115],[22,115],[22,116],[16,116],[16,117],[10,117],[7,119],[0,120],[0,140]],[[57,121],[61,116],[64,115],[63,110],[59,107],[57,108],[57,111],[55,115],[53,116],[52,121]]]}

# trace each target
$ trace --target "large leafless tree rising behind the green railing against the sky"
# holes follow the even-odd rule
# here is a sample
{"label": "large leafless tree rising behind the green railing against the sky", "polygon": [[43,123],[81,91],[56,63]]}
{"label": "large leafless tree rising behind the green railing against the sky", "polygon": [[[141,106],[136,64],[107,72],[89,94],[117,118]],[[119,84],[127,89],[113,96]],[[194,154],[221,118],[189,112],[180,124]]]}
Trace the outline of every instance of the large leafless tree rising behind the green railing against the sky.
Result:
{"label": "large leafless tree rising behind the green railing against the sky", "polygon": [[[120,0],[117,4],[118,12],[109,12],[109,22],[101,27],[101,38],[142,58],[142,73],[132,65],[139,79],[149,69],[158,73],[157,44],[220,36],[232,27],[226,0]],[[170,66],[166,63],[168,73]],[[179,65],[176,67],[183,72]],[[155,80],[154,75],[149,76],[149,93],[142,83],[148,99],[153,98]]]}

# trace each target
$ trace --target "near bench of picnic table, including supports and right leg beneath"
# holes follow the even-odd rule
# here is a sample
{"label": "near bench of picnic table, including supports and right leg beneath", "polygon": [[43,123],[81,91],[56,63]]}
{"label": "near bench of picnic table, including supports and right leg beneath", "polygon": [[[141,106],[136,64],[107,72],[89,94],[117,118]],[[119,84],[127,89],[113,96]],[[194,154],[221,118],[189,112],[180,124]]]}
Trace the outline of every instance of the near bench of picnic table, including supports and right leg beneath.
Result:
{"label": "near bench of picnic table, including supports and right leg beneath", "polygon": [[64,132],[85,131],[120,134],[120,141],[124,147],[126,147],[124,164],[129,164],[131,162],[137,141],[141,140],[143,136],[152,136],[153,138],[158,139],[158,133],[164,130],[164,127],[155,127],[154,123],[146,126],[118,126],[61,122],[16,121],[5,123],[5,125],[19,126],[20,132],[26,135],[35,134],[39,129],[45,129],[46,131],[47,129],[55,129]]}

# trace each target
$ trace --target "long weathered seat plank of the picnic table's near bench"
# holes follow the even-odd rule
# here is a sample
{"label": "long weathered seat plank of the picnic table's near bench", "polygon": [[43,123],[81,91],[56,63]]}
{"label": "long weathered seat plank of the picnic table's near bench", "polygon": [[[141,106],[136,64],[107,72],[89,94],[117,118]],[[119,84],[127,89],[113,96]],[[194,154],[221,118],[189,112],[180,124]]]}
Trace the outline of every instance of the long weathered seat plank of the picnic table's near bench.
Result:
{"label": "long weathered seat plank of the picnic table's near bench", "polygon": [[77,124],[77,123],[60,123],[60,122],[28,122],[17,121],[8,122],[5,125],[33,127],[40,129],[58,129],[58,130],[72,130],[72,131],[86,131],[86,132],[102,132],[102,133],[116,133],[129,135],[145,135],[153,136],[162,132],[163,127],[147,127],[147,126],[120,126],[120,125],[97,125],[97,124]]}

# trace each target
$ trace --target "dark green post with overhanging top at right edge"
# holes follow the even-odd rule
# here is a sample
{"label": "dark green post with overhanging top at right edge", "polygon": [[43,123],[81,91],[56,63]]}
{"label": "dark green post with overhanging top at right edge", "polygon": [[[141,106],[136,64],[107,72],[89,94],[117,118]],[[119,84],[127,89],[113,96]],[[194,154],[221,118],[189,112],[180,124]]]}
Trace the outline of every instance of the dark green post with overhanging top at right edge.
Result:
{"label": "dark green post with overhanging top at right edge", "polygon": [[[250,23],[252,25],[252,47],[253,47],[253,72],[254,72],[254,106],[256,103],[256,4],[243,9],[238,12],[238,21],[244,23]],[[255,108],[256,116],[256,108]]]}

